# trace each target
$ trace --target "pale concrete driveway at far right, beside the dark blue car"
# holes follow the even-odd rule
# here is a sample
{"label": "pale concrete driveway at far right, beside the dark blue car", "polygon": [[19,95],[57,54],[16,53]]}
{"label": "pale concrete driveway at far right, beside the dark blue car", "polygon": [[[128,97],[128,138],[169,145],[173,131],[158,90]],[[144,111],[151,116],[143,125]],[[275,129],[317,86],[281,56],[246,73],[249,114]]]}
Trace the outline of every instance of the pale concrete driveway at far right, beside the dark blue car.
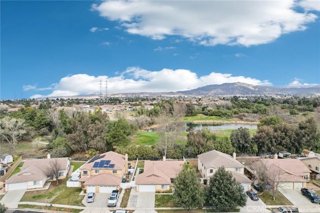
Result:
{"label": "pale concrete driveway at far right, beside the dark blue car", "polygon": [[[293,205],[298,206],[319,206],[318,203],[312,203],[306,196],[301,194],[299,189],[281,189],[279,190]],[[300,209],[299,209],[300,210]]]}

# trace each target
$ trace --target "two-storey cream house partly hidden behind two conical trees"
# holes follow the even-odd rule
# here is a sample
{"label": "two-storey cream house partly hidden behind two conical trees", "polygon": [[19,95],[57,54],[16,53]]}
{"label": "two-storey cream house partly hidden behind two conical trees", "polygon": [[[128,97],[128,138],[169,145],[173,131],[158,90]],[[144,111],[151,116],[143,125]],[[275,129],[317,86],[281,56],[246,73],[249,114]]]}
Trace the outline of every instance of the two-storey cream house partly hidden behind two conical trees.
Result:
{"label": "two-storey cream house partly hidden behind two conical trees", "polygon": [[243,185],[245,191],[251,189],[251,180],[244,175],[244,165],[236,160],[234,152],[231,156],[217,150],[211,150],[198,155],[198,170],[207,181],[221,166],[232,173],[233,177]]}

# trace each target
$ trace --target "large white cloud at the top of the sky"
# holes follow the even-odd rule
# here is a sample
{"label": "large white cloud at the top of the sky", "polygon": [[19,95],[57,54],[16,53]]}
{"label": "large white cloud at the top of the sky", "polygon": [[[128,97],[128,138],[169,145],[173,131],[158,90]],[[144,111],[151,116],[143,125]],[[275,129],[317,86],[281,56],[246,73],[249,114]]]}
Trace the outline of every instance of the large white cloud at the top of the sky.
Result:
{"label": "large white cloud at the top of the sky", "polygon": [[[202,45],[257,45],[304,30],[316,20],[318,1],[103,1],[91,10],[132,34],[163,39],[178,35]],[[301,11],[301,9],[303,11]]]}

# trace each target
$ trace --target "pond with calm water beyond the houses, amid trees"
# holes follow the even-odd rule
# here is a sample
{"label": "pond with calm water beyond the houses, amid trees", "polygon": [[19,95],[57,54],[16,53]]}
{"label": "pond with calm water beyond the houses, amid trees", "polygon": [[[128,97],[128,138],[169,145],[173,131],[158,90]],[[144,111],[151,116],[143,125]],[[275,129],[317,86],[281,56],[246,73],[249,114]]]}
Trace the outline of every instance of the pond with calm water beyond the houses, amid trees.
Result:
{"label": "pond with calm water beyond the houses, amid trees", "polygon": [[237,129],[240,128],[256,129],[256,124],[243,124],[243,123],[210,123],[210,124],[200,124],[185,122],[184,131],[190,130],[201,130],[202,128],[208,128],[210,131],[224,130],[224,129]]}

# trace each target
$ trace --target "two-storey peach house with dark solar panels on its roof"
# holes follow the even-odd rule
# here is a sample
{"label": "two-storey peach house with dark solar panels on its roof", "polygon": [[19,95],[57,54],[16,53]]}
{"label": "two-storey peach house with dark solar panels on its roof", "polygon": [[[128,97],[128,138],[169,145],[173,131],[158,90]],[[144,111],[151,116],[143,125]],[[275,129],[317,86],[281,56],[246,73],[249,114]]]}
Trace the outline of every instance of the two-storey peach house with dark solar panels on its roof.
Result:
{"label": "two-storey peach house with dark solar panels on its roof", "polygon": [[110,193],[119,189],[127,173],[127,161],[127,154],[113,151],[95,155],[81,167],[81,178],[78,181],[87,193]]}

